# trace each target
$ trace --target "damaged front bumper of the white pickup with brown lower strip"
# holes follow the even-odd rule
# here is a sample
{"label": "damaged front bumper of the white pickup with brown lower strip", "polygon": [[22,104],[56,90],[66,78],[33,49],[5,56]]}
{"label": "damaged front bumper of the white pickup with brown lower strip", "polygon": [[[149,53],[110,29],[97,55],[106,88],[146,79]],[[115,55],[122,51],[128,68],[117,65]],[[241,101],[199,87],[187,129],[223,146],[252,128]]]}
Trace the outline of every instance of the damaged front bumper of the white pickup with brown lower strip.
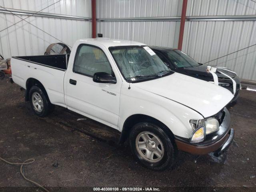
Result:
{"label": "damaged front bumper of the white pickup with brown lower strip", "polygon": [[225,116],[220,128],[217,132],[206,135],[203,142],[191,144],[189,139],[175,137],[177,148],[191,154],[208,154],[214,152],[215,156],[219,156],[232,143],[234,139],[234,129],[230,128],[230,114],[227,109],[224,109]]}

